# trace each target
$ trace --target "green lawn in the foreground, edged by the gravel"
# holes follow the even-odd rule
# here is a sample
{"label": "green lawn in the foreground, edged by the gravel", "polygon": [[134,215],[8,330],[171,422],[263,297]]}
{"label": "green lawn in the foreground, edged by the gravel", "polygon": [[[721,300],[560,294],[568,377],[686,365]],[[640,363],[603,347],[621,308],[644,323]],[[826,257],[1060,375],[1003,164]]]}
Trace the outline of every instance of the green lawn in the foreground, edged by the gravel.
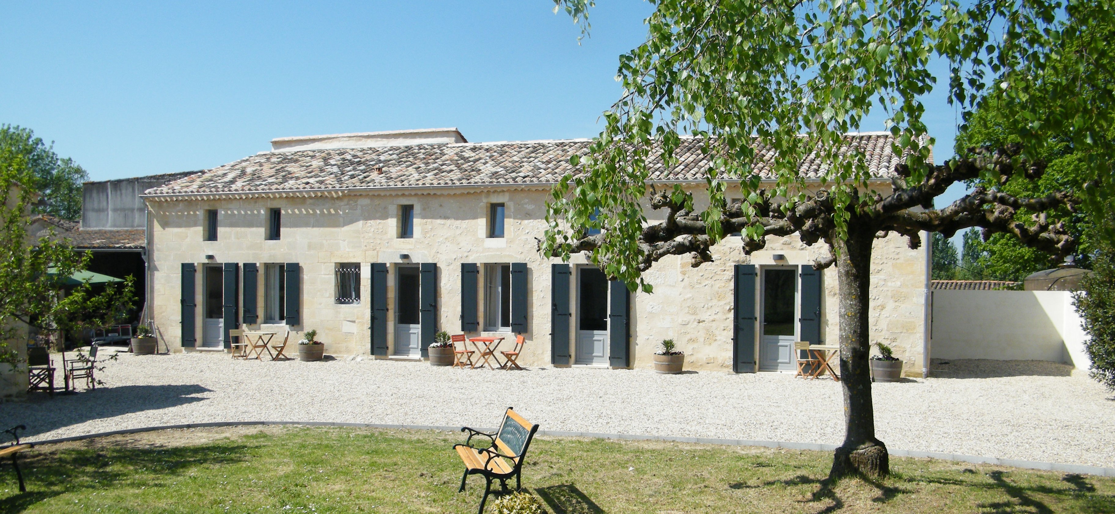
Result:
{"label": "green lawn in the foreground, edged by the gravel", "polygon": [[[459,434],[239,428],[167,430],[43,447],[28,493],[0,469],[0,513],[468,513]],[[201,438],[205,439],[205,438]],[[68,446],[66,446],[68,445]],[[884,481],[826,485],[831,454],[536,438],[524,486],[551,513],[1105,513],[1115,478],[892,458]],[[491,512],[491,510],[489,510]]]}

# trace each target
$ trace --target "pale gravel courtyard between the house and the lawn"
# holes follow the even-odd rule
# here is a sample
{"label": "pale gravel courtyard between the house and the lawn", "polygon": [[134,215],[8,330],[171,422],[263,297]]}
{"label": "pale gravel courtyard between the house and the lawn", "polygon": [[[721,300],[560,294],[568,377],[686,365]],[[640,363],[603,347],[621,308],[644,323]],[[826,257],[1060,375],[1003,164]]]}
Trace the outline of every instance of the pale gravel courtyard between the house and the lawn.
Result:
{"label": "pale gravel courtyard between the house and the lawn", "polygon": [[[362,358],[241,361],[223,353],[106,362],[105,387],[0,405],[29,439],[207,421],[491,427],[514,406],[547,430],[840,444],[840,385],[791,374],[435,368]],[[875,384],[891,448],[1115,467],[1115,401],[1064,365],[953,361],[952,378]],[[60,377],[59,377],[60,378]]]}

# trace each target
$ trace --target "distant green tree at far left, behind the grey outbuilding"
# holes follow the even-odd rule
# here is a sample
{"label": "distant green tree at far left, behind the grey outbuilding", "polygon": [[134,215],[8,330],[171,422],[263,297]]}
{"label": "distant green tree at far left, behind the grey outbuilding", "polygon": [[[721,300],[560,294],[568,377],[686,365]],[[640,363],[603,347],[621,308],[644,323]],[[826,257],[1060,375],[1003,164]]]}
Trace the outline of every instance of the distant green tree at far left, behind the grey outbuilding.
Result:
{"label": "distant green tree at far left, behind the grey outbuilding", "polygon": [[33,176],[32,186],[46,200],[32,206],[37,213],[64,220],[81,219],[81,183],[89,180],[74,159],[60,158],[54,144],[47,145],[30,128],[0,125],[0,148],[22,155]]}

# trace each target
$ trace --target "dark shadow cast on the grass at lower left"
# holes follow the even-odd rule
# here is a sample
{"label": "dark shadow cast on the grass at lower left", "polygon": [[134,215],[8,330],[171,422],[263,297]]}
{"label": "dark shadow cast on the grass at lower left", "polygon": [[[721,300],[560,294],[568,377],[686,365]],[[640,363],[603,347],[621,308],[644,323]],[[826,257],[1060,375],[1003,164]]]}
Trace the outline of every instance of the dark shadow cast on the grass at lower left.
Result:
{"label": "dark shadow cast on the grass at lower left", "polygon": [[[159,487],[180,481],[198,466],[234,464],[250,457],[246,445],[180,446],[161,448],[67,448],[20,459],[27,493],[16,491],[13,473],[0,474],[0,514],[18,514],[65,493],[105,491],[110,487]],[[120,465],[126,463],[125,465]],[[144,472],[137,477],[135,471]],[[4,469],[7,472],[7,469]],[[152,476],[154,474],[154,476]],[[99,508],[98,508],[99,511]]]}

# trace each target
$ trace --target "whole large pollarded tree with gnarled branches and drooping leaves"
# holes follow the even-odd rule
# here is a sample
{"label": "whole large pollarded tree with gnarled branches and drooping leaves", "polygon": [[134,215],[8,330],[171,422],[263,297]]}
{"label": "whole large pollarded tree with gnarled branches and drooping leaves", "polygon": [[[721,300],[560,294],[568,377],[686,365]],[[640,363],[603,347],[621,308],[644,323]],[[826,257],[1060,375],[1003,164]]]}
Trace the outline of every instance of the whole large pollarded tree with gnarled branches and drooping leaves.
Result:
{"label": "whole large pollarded tree with gnarled branches and drooping leaves", "polygon": [[[588,30],[590,0],[555,0]],[[845,438],[832,476],[885,475],[885,445],[875,437],[867,331],[872,242],[894,232],[913,248],[921,233],[946,236],[967,227],[1005,233],[1057,258],[1073,253],[1065,225],[1045,213],[1074,212],[1082,202],[1107,206],[1112,176],[1102,135],[1113,126],[1112,70],[1095,26],[1112,26],[1112,1],[982,0],[651,0],[647,41],[620,57],[623,96],[590,153],[574,156],[547,205],[546,254],[589,252],[610,277],[650,292],[641,273],[666,255],[709,262],[712,245],[733,232],[744,251],[768,235],[824,242],[840,289],[841,374]],[[922,98],[935,85],[934,59],[948,64],[950,103],[969,113],[988,88],[1002,94],[1005,116],[1025,117],[1017,143],[970,148],[943,165],[930,162]],[[1082,94],[1087,91],[1087,94]],[[1072,93],[1072,94],[1070,94]],[[940,107],[934,107],[940,108]],[[865,151],[846,134],[881,110],[902,156],[891,187],[875,191]],[[653,165],[676,164],[681,134],[698,138],[711,163],[708,207],[694,208],[681,187],[653,192]],[[1038,180],[1049,134],[1087,148],[1095,177],[1078,198],[1040,197],[998,187]],[[760,159],[759,155],[776,156]],[[798,172],[820,163],[818,183]],[[764,163],[757,169],[756,163]],[[981,186],[951,205],[933,200],[958,181]],[[743,203],[729,205],[729,184]],[[642,203],[666,210],[650,224]],[[1020,222],[1020,210],[1034,213]],[[586,227],[601,229],[585,236]]]}

